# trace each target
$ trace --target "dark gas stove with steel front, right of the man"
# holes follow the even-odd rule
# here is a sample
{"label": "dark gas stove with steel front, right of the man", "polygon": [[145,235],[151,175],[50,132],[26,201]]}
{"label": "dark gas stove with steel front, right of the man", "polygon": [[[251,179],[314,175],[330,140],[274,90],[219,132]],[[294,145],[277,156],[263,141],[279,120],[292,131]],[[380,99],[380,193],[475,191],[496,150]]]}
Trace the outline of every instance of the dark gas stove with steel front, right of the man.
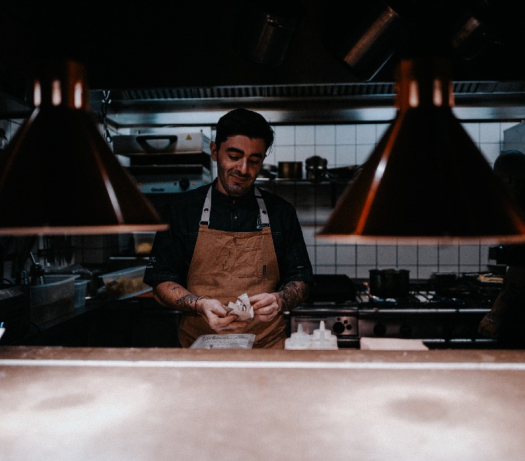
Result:
{"label": "dark gas stove with steel front, right of the man", "polygon": [[352,283],[351,299],[316,299],[292,310],[291,332],[302,325],[311,334],[322,320],[339,348],[359,348],[364,337],[419,339],[432,349],[497,347],[477,328],[501,290],[500,281],[483,282],[479,274],[463,274],[447,284],[418,280],[399,298],[372,295],[366,281]]}

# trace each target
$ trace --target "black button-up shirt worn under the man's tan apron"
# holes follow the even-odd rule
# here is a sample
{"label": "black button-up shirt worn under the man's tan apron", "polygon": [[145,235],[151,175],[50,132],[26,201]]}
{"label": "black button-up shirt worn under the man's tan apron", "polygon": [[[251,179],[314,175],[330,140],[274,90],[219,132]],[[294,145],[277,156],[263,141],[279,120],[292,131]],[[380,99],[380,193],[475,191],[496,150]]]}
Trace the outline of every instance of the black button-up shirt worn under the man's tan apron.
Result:
{"label": "black button-up shirt worn under the man's tan apron", "polygon": [[[173,196],[163,215],[169,230],[157,232],[155,236],[144,283],[156,286],[160,282],[173,281],[187,286],[186,277],[209,187],[206,185]],[[276,289],[291,281],[312,283],[312,265],[295,208],[269,191],[261,190],[261,195],[270,218],[279,264],[280,286]],[[260,230],[259,206],[253,189],[244,197],[232,199],[213,187],[209,227],[227,232]]]}

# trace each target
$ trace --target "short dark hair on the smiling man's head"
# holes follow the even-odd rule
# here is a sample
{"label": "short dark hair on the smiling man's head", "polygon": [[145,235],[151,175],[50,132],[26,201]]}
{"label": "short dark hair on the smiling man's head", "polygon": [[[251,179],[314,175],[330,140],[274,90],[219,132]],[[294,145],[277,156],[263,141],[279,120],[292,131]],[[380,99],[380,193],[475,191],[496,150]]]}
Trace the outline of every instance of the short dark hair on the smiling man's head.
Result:
{"label": "short dark hair on the smiling man's head", "polygon": [[274,131],[266,119],[259,113],[248,109],[233,109],[223,115],[217,123],[215,144],[221,147],[223,141],[235,135],[248,136],[251,139],[264,140],[268,155],[273,145]]}

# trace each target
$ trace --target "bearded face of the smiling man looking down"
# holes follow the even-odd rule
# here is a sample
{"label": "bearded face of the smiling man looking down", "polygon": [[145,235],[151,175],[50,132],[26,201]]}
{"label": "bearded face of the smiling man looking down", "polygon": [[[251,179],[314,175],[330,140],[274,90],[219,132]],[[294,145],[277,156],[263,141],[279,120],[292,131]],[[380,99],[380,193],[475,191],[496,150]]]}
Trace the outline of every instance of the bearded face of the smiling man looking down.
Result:
{"label": "bearded face of the smiling man looking down", "polygon": [[263,139],[230,136],[221,144],[220,151],[212,142],[211,158],[217,162],[217,188],[230,197],[242,197],[261,171],[266,153]]}

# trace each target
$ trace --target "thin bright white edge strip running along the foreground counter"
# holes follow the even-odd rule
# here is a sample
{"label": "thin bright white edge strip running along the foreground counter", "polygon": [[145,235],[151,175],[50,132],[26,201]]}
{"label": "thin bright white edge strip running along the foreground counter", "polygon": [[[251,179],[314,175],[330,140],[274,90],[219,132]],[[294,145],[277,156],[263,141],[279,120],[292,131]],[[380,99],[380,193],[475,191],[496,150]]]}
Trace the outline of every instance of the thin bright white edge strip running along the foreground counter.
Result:
{"label": "thin bright white edge strip running along the foreground counter", "polygon": [[299,361],[127,361],[127,360],[0,360],[0,366],[20,367],[99,367],[99,368],[275,368],[275,369],[347,369],[347,370],[483,370],[525,371],[525,363],[477,362],[299,362]]}

